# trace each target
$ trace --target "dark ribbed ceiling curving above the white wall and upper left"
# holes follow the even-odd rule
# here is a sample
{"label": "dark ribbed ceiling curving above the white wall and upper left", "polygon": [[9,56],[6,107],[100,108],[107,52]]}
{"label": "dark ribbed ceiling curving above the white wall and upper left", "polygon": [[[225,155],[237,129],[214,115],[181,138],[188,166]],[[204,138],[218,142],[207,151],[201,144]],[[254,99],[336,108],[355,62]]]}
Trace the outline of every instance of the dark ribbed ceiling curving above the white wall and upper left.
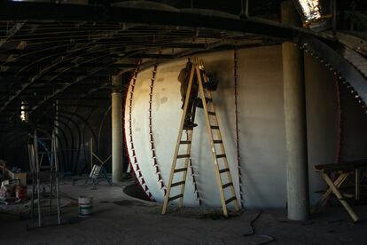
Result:
{"label": "dark ribbed ceiling curving above the white wall and upper left", "polygon": [[[292,28],[239,20],[245,1],[34,2],[0,6],[0,123],[9,127],[20,123],[21,106],[35,118],[56,100],[108,99],[112,75],[123,73],[127,83],[138,59],[148,66],[156,59],[281,43],[295,35]],[[251,0],[249,13],[277,20],[280,2]],[[346,11],[355,6],[361,12],[366,5],[339,2]]]}

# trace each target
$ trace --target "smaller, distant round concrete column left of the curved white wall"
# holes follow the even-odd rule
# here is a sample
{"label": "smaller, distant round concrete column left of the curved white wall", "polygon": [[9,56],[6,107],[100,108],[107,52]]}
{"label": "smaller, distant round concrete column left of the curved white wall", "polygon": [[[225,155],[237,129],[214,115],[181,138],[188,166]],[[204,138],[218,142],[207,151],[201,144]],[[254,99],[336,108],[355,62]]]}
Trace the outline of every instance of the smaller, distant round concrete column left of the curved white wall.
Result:
{"label": "smaller, distant round concrete column left of the curved white wall", "polygon": [[123,171],[122,94],[120,92],[121,81],[119,80],[119,77],[113,77],[114,89],[111,94],[113,183],[122,180]]}

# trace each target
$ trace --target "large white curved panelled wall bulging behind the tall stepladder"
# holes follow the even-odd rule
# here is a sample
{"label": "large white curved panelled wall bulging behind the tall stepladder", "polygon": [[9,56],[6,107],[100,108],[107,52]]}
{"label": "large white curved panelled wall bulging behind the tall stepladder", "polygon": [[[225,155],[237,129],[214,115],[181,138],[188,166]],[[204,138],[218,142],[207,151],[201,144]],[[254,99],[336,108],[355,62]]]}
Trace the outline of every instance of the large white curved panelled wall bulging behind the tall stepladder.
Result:
{"label": "large white curved panelled wall bulging behind the tall stepladder", "polygon": [[[230,163],[230,172],[239,200],[233,51],[201,54],[199,58],[204,59],[207,71],[220,81],[218,90],[213,92],[213,97]],[[180,83],[177,81],[177,75],[185,66],[186,61],[187,59],[176,59],[158,64],[151,101],[153,145],[151,145],[149,134],[149,93],[153,67],[137,75],[135,89],[132,93],[131,115],[129,115],[128,100],[132,86],[129,87],[128,92],[125,125],[129,125],[131,117],[133,141],[131,145],[128,138],[129,155],[130,158],[133,156],[132,147],[134,147],[137,164],[132,164],[133,168],[141,170],[141,175],[138,175],[140,183],[145,188],[149,188],[148,194],[152,194],[154,200],[158,202],[163,201],[165,189],[159,182],[160,178],[164,185],[168,184],[182,114]],[[285,207],[286,171],[282,73],[280,46],[238,51],[238,148],[242,173],[242,202],[246,208]],[[207,206],[220,207],[214,163],[200,108],[198,108],[195,122],[199,126],[194,129],[191,156],[199,200]],[[129,127],[126,127],[126,133],[129,135]],[[152,159],[154,151],[156,162]],[[199,200],[189,173],[183,204],[197,206]]]}

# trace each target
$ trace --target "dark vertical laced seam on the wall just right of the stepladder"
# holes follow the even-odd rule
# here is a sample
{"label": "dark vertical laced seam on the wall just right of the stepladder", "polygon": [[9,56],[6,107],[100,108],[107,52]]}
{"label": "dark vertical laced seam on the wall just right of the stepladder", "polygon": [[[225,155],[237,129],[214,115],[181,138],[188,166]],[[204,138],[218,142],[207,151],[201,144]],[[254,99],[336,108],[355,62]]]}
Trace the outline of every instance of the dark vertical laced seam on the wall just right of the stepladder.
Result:
{"label": "dark vertical laced seam on the wall just right of the stepladder", "polygon": [[234,92],[235,92],[235,121],[236,121],[236,149],[237,149],[237,168],[238,168],[238,183],[239,183],[239,197],[241,207],[244,208],[244,196],[242,190],[242,171],[239,157],[239,138],[238,138],[238,55],[237,50],[234,50]]}

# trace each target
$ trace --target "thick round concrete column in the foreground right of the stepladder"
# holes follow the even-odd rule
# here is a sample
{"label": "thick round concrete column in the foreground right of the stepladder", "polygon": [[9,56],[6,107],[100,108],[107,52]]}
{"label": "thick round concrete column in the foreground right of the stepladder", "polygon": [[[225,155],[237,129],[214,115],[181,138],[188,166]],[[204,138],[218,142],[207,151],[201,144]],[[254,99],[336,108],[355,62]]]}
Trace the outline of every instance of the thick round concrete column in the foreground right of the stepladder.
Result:
{"label": "thick round concrete column in the foreground right of the stepladder", "polygon": [[[298,25],[292,1],[282,3],[282,22]],[[283,43],[287,211],[292,220],[308,219],[308,151],[303,52]]]}

